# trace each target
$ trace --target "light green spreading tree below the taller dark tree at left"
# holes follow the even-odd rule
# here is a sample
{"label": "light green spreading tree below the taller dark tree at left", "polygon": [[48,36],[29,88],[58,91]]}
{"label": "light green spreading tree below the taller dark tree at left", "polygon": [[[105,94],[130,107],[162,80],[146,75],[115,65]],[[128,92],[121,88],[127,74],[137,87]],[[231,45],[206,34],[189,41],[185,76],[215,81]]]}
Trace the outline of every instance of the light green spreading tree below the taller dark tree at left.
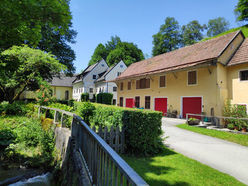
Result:
{"label": "light green spreading tree below the taller dark tree at left", "polygon": [[34,90],[44,79],[49,81],[66,68],[54,55],[26,45],[13,46],[0,57],[0,89],[10,103],[24,90]]}

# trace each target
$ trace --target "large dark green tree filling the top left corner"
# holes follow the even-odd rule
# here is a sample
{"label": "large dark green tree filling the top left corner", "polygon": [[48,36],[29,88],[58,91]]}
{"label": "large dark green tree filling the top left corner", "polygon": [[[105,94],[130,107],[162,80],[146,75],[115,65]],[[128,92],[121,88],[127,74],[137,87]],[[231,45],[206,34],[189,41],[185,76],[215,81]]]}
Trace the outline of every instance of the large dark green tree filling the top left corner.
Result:
{"label": "large dark green tree filling the top left corner", "polygon": [[71,19],[69,0],[2,0],[0,51],[22,44],[42,48],[56,55],[73,72],[75,54],[67,45],[75,36],[70,29]]}

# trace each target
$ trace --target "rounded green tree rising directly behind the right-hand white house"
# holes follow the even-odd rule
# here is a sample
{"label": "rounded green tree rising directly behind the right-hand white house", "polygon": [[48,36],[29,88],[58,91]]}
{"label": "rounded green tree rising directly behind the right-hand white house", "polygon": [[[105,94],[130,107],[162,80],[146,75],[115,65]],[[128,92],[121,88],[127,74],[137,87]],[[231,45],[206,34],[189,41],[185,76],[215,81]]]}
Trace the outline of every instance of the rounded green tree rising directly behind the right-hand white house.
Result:
{"label": "rounded green tree rising directly behind the right-hand white house", "polygon": [[143,59],[144,54],[137,45],[128,42],[120,42],[116,45],[116,48],[109,53],[107,63],[109,66],[112,66],[120,60],[123,60],[124,63],[129,66],[132,63]]}

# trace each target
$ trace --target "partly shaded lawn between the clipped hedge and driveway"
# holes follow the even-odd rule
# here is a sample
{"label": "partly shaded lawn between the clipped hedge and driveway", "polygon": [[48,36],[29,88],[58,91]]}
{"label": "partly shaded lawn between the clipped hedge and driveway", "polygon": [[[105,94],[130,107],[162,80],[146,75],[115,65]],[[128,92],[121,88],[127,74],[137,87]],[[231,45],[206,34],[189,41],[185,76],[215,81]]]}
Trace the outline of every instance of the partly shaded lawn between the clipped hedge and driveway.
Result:
{"label": "partly shaded lawn between the clipped hedge and driveway", "polygon": [[123,156],[151,186],[160,185],[244,185],[232,176],[187,158],[168,148],[154,157]]}

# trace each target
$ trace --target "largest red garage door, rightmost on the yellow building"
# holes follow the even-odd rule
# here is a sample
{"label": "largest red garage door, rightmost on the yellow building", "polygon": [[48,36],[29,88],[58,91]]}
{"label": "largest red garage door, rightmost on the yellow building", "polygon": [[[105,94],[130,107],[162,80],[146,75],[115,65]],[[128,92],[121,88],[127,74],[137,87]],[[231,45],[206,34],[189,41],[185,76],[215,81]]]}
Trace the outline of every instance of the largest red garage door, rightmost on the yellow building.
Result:
{"label": "largest red garage door, rightmost on the yellow building", "polygon": [[[201,114],[202,98],[201,97],[187,97],[183,98],[183,117],[186,118],[187,113]],[[195,117],[198,118],[198,117]]]}

